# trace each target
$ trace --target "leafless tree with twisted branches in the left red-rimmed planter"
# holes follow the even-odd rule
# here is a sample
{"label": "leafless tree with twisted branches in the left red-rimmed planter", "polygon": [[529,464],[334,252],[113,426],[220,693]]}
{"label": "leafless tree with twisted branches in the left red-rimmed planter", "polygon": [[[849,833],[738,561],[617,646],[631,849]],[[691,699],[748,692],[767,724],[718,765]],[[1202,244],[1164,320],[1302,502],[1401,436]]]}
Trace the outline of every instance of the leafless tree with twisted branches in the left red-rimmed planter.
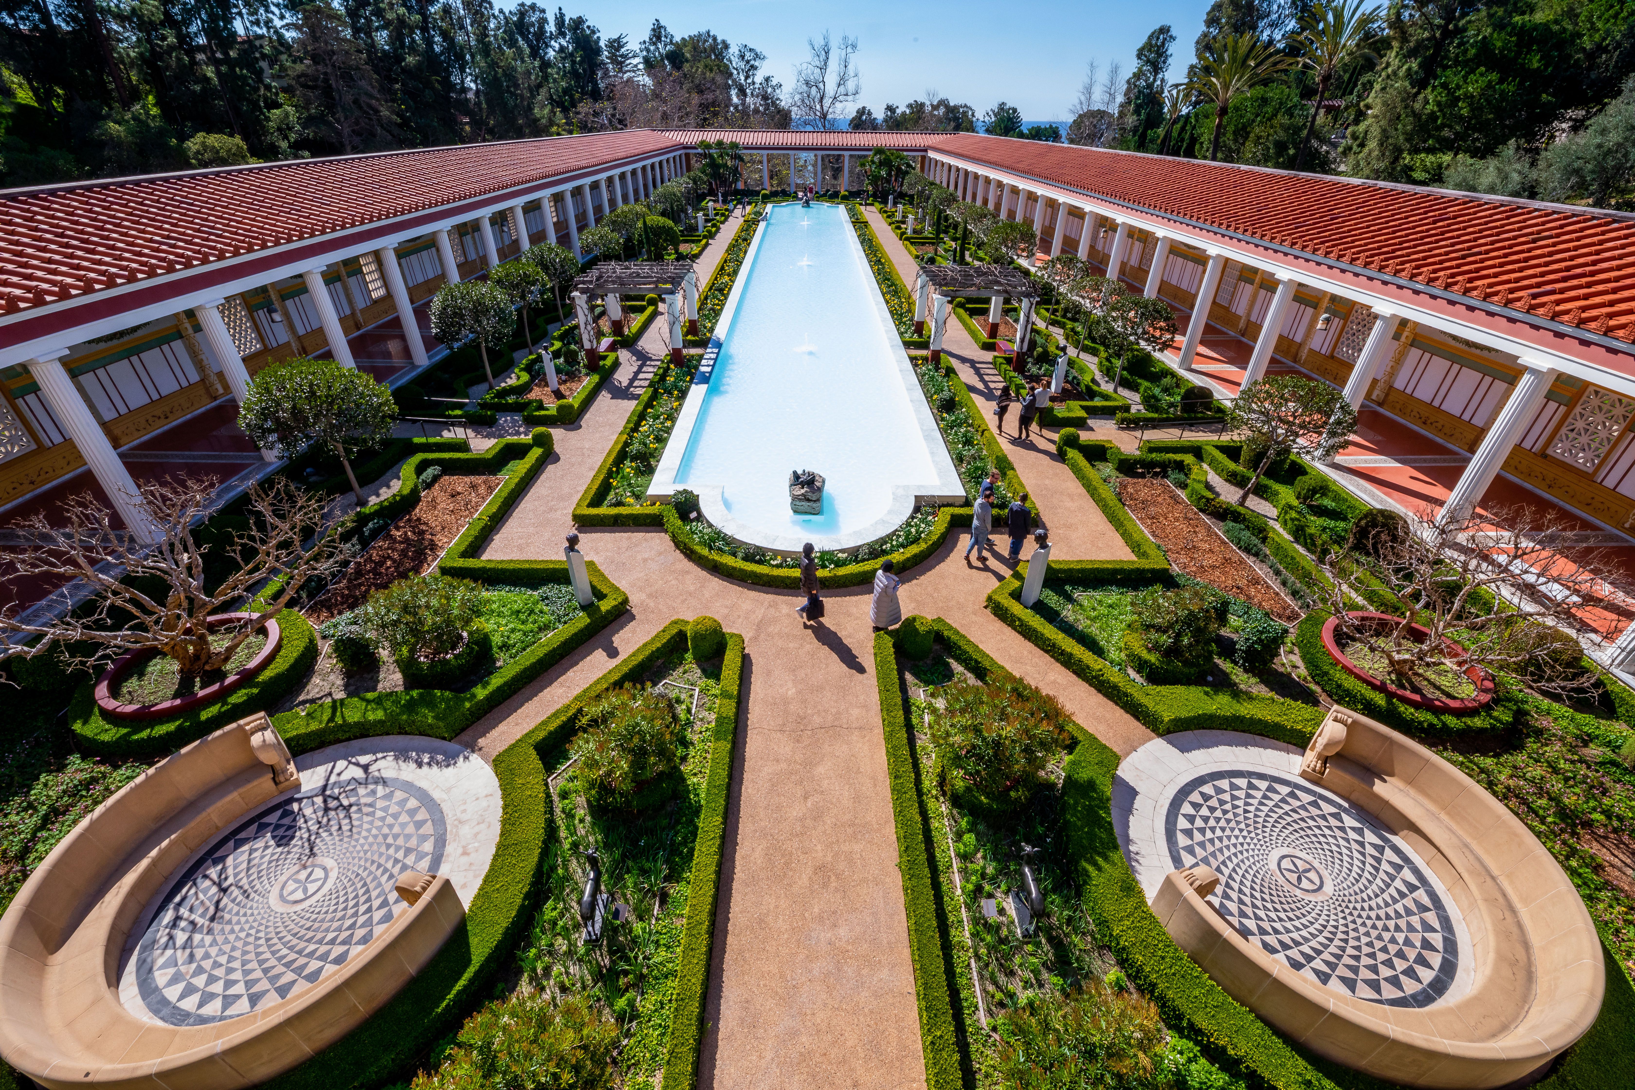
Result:
{"label": "leafless tree with twisted branches in the left red-rimmed planter", "polygon": [[[335,515],[325,511],[327,497],[281,477],[268,487],[250,485],[242,533],[209,541],[199,523],[214,508],[216,484],[213,477],[144,482],[136,502],[157,531],[152,547],[119,533],[114,516],[88,492],[54,505],[49,523],[39,513],[23,520],[18,539],[0,551],[0,572],[52,585],[80,579],[93,596],[56,618],[29,618],[16,608],[0,613],[0,632],[11,637],[5,657],[51,650],[70,667],[96,668],[131,650],[155,650],[168,655],[180,675],[196,678],[231,663],[244,641],[304,585],[350,562],[352,552],[329,533]],[[227,561],[219,565],[226,570],[219,582],[216,564],[206,570],[217,559]],[[273,579],[283,580],[273,593],[250,600]],[[206,618],[229,606],[253,619],[217,628],[213,637]],[[29,637],[38,639],[23,647]]]}

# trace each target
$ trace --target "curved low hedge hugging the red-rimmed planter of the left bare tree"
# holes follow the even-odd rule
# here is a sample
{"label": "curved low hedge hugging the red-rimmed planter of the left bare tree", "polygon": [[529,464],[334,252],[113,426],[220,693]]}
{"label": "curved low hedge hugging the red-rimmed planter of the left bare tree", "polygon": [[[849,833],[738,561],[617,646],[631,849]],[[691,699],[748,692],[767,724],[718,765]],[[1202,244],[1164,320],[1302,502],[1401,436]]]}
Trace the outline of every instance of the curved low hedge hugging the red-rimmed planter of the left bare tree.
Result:
{"label": "curved low hedge hugging the red-rimmed planter of the left bare tree", "polygon": [[80,747],[101,757],[162,757],[219,730],[229,722],[267,711],[306,678],[317,662],[317,634],[294,610],[278,614],[278,654],[253,678],[196,711],[167,719],[110,719],[96,704],[96,685],[87,681],[69,703],[69,729]]}

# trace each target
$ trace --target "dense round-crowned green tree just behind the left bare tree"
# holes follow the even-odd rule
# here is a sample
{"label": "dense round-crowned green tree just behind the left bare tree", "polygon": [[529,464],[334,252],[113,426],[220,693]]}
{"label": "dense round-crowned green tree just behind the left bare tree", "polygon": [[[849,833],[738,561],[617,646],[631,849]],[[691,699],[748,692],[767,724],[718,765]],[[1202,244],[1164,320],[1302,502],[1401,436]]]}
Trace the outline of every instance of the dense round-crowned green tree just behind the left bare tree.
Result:
{"label": "dense round-crowned green tree just behind the left bare tree", "polygon": [[334,360],[302,356],[263,368],[250,381],[250,394],[239,409],[239,427],[252,443],[284,458],[294,458],[314,443],[334,449],[347,469],[358,507],[363,507],[352,456],[392,438],[396,412],[392,392],[373,376]]}

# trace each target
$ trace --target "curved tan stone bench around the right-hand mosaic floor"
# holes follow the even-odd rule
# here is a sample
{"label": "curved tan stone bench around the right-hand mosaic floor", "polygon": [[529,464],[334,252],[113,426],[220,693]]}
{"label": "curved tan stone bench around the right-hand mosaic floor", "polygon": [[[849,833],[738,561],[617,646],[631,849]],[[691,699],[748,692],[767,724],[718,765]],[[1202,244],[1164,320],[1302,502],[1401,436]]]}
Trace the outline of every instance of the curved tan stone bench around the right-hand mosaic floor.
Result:
{"label": "curved tan stone bench around the right-hand mosaic floor", "polygon": [[1498,799],[1342,708],[1313,737],[1300,775],[1372,814],[1436,873],[1463,914],[1473,981],[1422,1008],[1354,998],[1239,935],[1205,900],[1213,871],[1171,871],[1153,912],[1228,995],[1313,1052],[1409,1087],[1504,1087],[1589,1030],[1606,987],[1596,928],[1566,873]]}

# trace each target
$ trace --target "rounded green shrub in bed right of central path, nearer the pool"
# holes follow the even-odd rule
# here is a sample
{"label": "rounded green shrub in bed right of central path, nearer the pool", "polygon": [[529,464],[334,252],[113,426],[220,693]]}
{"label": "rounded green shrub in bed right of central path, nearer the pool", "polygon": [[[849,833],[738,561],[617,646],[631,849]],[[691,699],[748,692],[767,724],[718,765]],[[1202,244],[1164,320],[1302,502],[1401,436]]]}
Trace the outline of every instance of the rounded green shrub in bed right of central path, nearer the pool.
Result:
{"label": "rounded green shrub in bed right of central path, nearer the pool", "polygon": [[1068,713],[1055,696],[997,670],[988,681],[937,690],[932,714],[938,780],[960,809],[1006,814],[1027,804],[1040,773],[1073,744]]}

